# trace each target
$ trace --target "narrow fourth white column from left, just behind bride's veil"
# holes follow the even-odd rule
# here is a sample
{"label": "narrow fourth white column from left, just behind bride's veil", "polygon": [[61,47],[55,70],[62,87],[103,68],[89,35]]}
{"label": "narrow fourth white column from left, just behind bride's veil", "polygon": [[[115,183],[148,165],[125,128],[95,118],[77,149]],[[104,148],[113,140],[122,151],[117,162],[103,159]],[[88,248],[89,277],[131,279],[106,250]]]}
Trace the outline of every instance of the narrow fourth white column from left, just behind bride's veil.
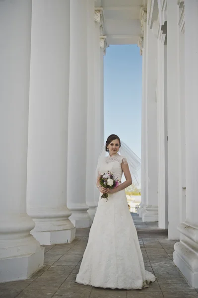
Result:
{"label": "narrow fourth white column from left, just behind bride's veil", "polygon": [[[88,90],[87,90],[87,161],[86,161],[86,204],[89,206],[88,213],[93,220],[97,201],[94,193],[96,189],[95,156],[93,149],[94,123],[95,123],[95,24],[94,24],[94,0],[88,0]],[[99,44],[99,41],[98,41]],[[98,197],[99,192],[97,191]]]}

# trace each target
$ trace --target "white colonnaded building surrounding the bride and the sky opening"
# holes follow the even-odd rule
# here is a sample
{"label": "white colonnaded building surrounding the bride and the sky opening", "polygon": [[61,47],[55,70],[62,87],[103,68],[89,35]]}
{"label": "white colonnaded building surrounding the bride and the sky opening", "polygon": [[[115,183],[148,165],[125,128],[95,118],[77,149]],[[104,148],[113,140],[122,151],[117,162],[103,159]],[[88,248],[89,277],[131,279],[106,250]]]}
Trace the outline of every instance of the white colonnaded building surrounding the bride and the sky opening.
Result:
{"label": "white colonnaded building surrounding the bride and the sky opening", "polygon": [[0,1],[0,282],[89,227],[104,143],[104,54],[142,55],[142,221],[198,288],[198,0]]}

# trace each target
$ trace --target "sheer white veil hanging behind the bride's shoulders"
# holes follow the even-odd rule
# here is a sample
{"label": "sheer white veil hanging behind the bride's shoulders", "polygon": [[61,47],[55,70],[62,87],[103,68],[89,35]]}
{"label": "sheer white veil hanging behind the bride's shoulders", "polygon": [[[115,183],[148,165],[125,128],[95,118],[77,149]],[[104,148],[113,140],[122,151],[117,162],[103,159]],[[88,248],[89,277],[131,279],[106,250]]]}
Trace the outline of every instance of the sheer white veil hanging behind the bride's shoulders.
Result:
{"label": "sheer white veil hanging behind the bride's shoulders", "polygon": [[[102,162],[105,162],[106,157],[106,144],[103,146],[99,158],[98,165],[96,168],[96,178],[98,177],[99,167]],[[121,141],[121,147],[119,149],[119,154],[127,158],[130,173],[132,175],[132,184],[135,186],[140,186],[141,177],[141,159],[130,149],[124,142]]]}

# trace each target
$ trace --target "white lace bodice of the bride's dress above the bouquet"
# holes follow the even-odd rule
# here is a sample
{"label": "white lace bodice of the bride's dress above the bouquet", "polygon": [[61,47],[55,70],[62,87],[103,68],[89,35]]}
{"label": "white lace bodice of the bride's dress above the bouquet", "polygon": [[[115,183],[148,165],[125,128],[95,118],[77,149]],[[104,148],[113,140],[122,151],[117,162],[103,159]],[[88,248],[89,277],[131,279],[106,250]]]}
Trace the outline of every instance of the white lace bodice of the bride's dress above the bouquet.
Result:
{"label": "white lace bodice of the bride's dress above the bouquet", "polygon": [[127,159],[122,155],[115,154],[113,156],[108,155],[104,162],[100,164],[99,173],[103,174],[106,173],[108,170],[112,172],[112,174],[118,178],[119,180],[122,179],[123,170],[121,167],[121,163],[127,163]]}

